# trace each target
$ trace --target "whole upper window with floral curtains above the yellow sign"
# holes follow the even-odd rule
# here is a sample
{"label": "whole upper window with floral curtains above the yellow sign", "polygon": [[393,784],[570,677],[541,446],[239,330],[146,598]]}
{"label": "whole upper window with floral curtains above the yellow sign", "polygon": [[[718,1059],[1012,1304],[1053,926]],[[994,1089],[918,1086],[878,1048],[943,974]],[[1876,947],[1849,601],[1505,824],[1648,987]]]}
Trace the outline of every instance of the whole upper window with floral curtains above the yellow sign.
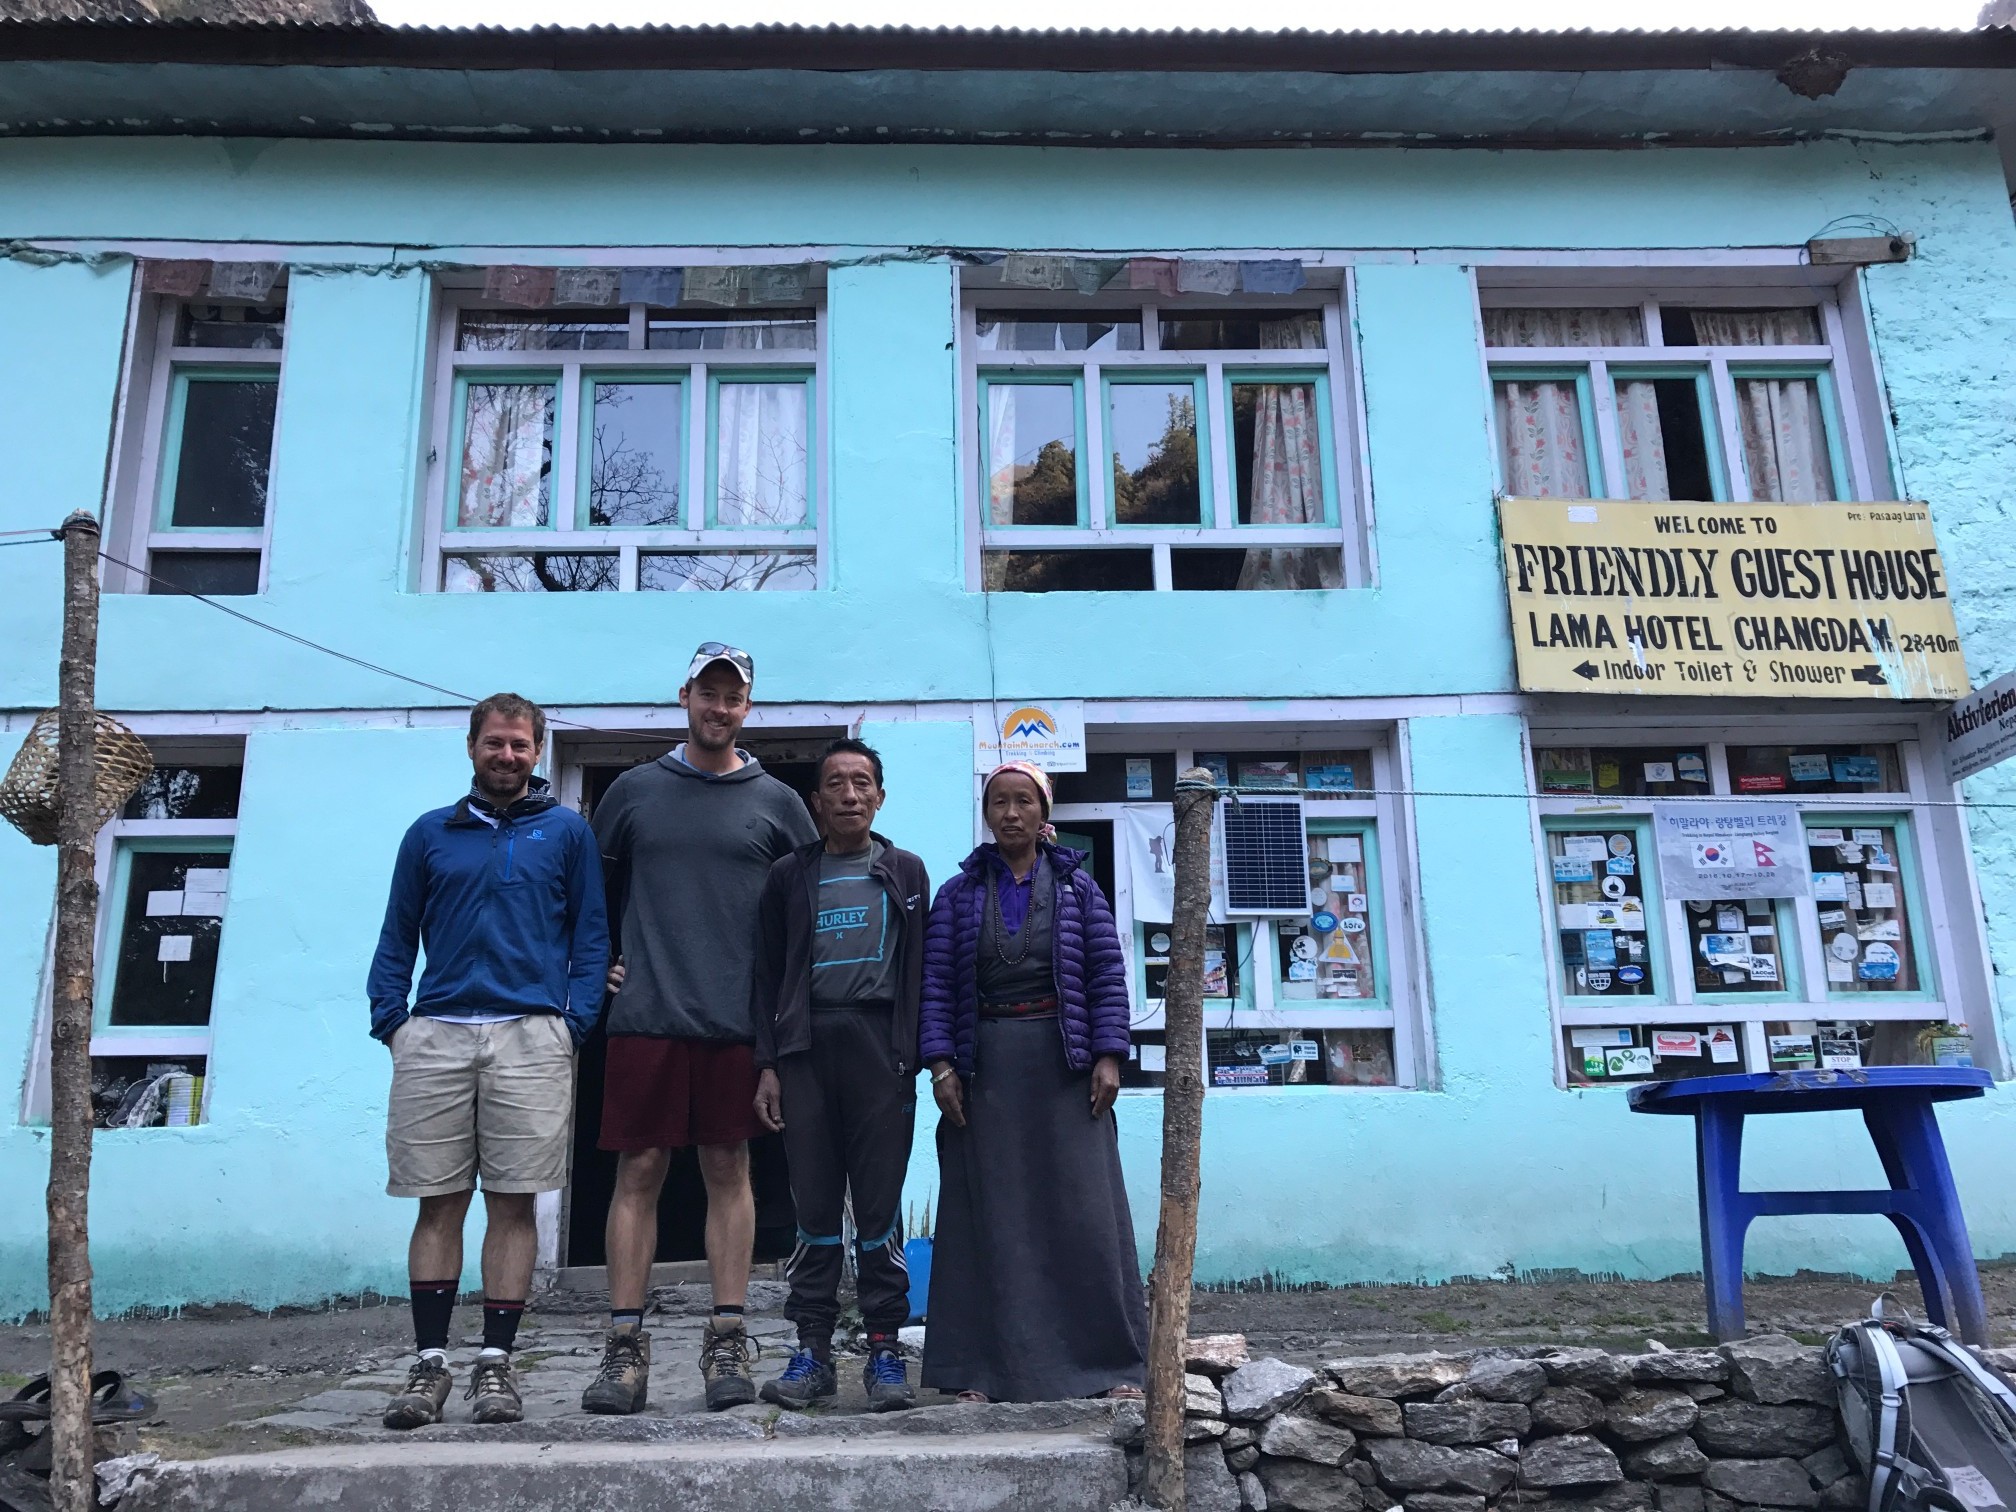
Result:
{"label": "whole upper window with floral curtains above the yellow sign", "polygon": [[1486,290],[1500,486],[1532,498],[1881,498],[1843,317],[1784,290],[1730,308]]}

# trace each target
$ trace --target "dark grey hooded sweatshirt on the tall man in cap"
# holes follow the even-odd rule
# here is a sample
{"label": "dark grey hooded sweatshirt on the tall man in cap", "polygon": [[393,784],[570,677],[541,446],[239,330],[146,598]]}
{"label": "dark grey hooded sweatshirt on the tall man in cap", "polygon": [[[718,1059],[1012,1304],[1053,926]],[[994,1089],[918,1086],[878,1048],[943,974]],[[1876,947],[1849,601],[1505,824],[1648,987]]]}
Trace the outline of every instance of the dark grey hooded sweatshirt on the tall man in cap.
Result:
{"label": "dark grey hooded sweatshirt on the tall man in cap", "polygon": [[625,970],[609,1032],[750,1042],[756,901],[770,863],[818,839],[798,794],[748,752],[724,776],[665,754],[609,786],[595,839]]}

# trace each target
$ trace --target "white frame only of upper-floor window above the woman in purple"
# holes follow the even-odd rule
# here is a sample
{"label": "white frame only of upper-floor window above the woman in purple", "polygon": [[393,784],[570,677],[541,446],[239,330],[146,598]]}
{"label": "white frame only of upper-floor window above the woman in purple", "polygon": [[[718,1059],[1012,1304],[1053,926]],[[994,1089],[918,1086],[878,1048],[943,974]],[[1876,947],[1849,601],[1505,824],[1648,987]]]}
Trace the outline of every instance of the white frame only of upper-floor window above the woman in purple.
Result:
{"label": "white frame only of upper-floor window above the woman in purple", "polygon": [[[1351,333],[1355,319],[1355,284],[1345,268],[1335,288],[1304,286],[1296,294],[1175,294],[1159,296],[1143,290],[1107,290],[1101,294],[1075,294],[1030,288],[974,288],[960,290],[960,458],[966,488],[968,530],[968,587],[982,591],[982,560],[992,550],[1101,550],[1133,548],[1153,552],[1155,591],[1171,589],[1169,552],[1175,546],[1206,548],[1262,548],[1262,546],[1314,546],[1343,552],[1343,589],[1367,587],[1373,579],[1369,526],[1371,526],[1371,478],[1365,464],[1365,415],[1363,395],[1357,377],[1357,355]],[[1302,351],[1163,351],[1161,317],[1171,312],[1193,312],[1198,317],[1224,312],[1266,312],[1266,310],[1322,310],[1322,349]],[[988,310],[1139,310],[1141,351],[980,351],[976,312]],[[1280,373],[1300,369],[1322,375],[1329,385],[1331,452],[1325,458],[1329,468],[1329,490],[1337,500],[1337,522],[1314,526],[1254,526],[1238,524],[1238,496],[1232,472],[1232,423],[1226,385],[1242,371]],[[1111,476],[1103,466],[1089,466],[1091,458],[1107,456],[1105,448],[1105,403],[1101,393],[1105,379],[1143,371],[1155,375],[1193,375],[1204,383],[1206,405],[1198,415],[1198,442],[1210,458],[1210,478],[1206,482],[1212,524],[1198,526],[1151,526],[1115,524],[1111,506]],[[1085,456],[1079,458],[1079,474],[1085,478],[1087,524],[1083,526],[992,526],[988,522],[988,492],[982,476],[980,454],[984,450],[986,421],[980,413],[982,381],[994,373],[1054,373],[1075,377],[1083,391],[1083,433]],[[1286,381],[1286,379],[1282,379]]]}

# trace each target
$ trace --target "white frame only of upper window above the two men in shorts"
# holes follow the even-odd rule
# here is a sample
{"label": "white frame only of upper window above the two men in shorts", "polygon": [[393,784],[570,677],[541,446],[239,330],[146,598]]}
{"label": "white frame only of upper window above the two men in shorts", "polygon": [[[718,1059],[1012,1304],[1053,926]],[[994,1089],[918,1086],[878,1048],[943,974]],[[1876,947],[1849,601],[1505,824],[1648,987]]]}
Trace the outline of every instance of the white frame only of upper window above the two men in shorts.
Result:
{"label": "white frame only of upper window above the two men in shorts", "polygon": [[[647,552],[812,552],[812,587],[825,589],[829,583],[829,524],[827,524],[827,435],[831,415],[829,383],[829,325],[825,288],[808,288],[804,302],[796,308],[810,308],[814,319],[812,349],[778,347],[760,351],[694,351],[694,349],[645,349],[647,312],[657,306],[611,304],[601,308],[556,308],[550,314],[564,319],[627,319],[629,349],[619,351],[458,351],[456,331],[464,310],[524,312],[506,310],[496,300],[482,298],[474,288],[439,288],[433,359],[431,359],[431,405],[429,405],[429,450],[425,476],[425,506],[421,524],[419,591],[444,593],[442,579],[450,556],[494,554],[516,556],[528,552],[577,554],[577,552],[617,552],[617,591],[637,591],[637,562]],[[734,319],[764,319],[764,308],[722,310],[714,306],[694,306],[679,310],[657,308],[665,314],[708,314]],[[484,369],[522,373],[526,369],[556,371],[558,393],[552,423],[552,516],[554,524],[528,530],[508,528],[458,528],[448,522],[448,496],[452,480],[460,472],[460,458],[450,456],[458,435],[456,395],[458,379]],[[691,522],[698,512],[700,528],[663,526],[605,526],[569,528],[560,524],[575,514],[575,500],[581,476],[581,425],[583,425],[583,381],[599,369],[613,375],[623,373],[663,373],[679,375],[683,383],[683,431],[679,456],[679,510]],[[708,528],[708,458],[714,452],[710,435],[712,383],[734,371],[802,371],[812,385],[810,417],[806,427],[806,506],[810,520],[806,526],[768,530],[722,530]]]}

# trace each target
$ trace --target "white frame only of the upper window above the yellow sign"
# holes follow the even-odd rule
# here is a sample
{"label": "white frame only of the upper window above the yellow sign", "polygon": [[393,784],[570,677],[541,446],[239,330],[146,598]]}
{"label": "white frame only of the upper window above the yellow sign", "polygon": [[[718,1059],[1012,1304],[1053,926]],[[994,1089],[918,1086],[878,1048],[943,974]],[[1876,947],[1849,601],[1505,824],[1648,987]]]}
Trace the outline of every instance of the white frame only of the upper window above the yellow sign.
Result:
{"label": "white frame only of the upper window above the yellow sign", "polygon": [[[1760,264],[1762,266],[1762,264]],[[1564,270],[1552,270],[1562,274]],[[1750,369],[1768,373],[1770,369],[1792,369],[1788,375],[1802,377],[1808,369],[1824,373],[1822,407],[1831,403],[1829,427],[1831,472],[1837,478],[1839,500],[1829,502],[1869,502],[1893,496],[1887,456],[1881,450],[1881,427],[1871,427],[1869,413],[1881,409],[1871,395],[1881,389],[1873,381],[1873,345],[1861,327],[1861,302],[1855,298],[1859,286],[1814,286],[1808,282],[1766,284],[1748,280],[1740,270],[1722,270],[1730,282],[1639,282],[1635,286],[1615,280],[1587,284],[1564,284],[1558,276],[1546,284],[1522,284],[1490,280],[1478,286],[1478,341],[1484,349],[1488,373],[1486,393],[1492,427],[1492,468],[1504,456],[1498,435],[1496,375],[1500,369],[1558,367],[1579,369],[1589,381],[1589,409],[1595,423],[1595,446],[1589,454],[1591,498],[1629,498],[1625,488],[1623,442],[1617,425],[1617,391],[1611,369],[1673,367],[1673,375],[1693,375],[1706,367],[1712,405],[1702,415],[1704,435],[1720,456],[1710,458],[1710,468],[1720,466],[1724,492],[1730,502],[1750,504],[1752,488],[1744,462],[1742,417],[1736,399],[1736,383],[1750,377]],[[1643,270],[1641,270],[1643,274]],[[1685,304],[1695,308],[1812,308],[1820,317],[1822,343],[1816,347],[1667,347],[1659,323],[1661,304]],[[1490,347],[1484,345],[1484,310],[1488,308],[1635,308],[1645,325],[1643,347]],[[1738,369],[1732,375],[1732,367]],[[1534,379],[1542,381],[1542,379]]]}

